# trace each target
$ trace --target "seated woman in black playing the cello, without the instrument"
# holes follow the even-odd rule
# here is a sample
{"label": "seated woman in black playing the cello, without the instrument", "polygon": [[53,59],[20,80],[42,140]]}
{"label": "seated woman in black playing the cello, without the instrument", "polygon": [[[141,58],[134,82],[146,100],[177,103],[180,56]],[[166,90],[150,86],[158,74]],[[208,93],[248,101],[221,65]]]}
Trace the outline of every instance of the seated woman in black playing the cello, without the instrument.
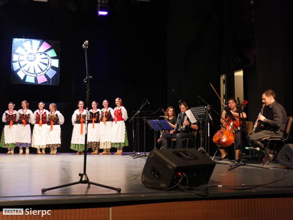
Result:
{"label": "seated woman in black playing the cello, without the instrument", "polygon": [[[228,100],[228,107],[230,108],[231,113],[236,116],[239,117],[239,113],[238,113],[238,109],[236,107],[236,99],[234,98],[230,98]],[[242,133],[242,137],[246,137],[247,136],[247,130],[246,130],[246,123],[245,123],[245,119],[246,119],[246,114],[245,112],[243,112],[243,119],[242,119],[242,123],[241,123],[241,132]],[[229,116],[229,114],[224,110],[222,113],[222,118],[226,119]],[[240,114],[240,117],[242,118],[242,114]],[[225,123],[225,121],[221,118],[221,123]],[[240,132],[239,130],[235,132],[235,146],[236,146],[236,160],[237,163],[240,163]],[[223,160],[228,158],[228,154],[226,153],[224,147],[219,147],[220,151],[221,151],[221,155],[219,160]]]}

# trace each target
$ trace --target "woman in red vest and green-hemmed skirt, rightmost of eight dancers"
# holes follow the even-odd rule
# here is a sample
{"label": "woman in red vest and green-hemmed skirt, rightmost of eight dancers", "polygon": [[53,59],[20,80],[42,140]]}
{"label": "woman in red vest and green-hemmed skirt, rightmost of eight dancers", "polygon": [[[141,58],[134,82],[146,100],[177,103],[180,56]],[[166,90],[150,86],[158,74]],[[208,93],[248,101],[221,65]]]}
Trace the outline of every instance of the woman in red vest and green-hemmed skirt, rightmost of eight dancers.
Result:
{"label": "woman in red vest and green-hemmed skirt, rightmost of eight dancers", "polygon": [[128,138],[125,122],[128,119],[127,111],[122,105],[122,100],[117,98],[115,100],[117,105],[114,108],[114,121],[112,126],[112,147],[117,148],[115,154],[122,154],[122,148],[128,146]]}

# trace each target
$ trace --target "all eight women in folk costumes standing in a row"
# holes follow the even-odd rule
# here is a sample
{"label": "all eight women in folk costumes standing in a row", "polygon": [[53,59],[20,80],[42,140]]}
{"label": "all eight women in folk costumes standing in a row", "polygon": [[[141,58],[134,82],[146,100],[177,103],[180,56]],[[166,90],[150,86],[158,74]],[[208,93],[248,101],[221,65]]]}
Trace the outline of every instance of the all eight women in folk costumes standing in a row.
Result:
{"label": "all eight women in folk costumes standing in a row", "polygon": [[[116,107],[113,110],[108,107],[109,102],[103,101],[103,109],[97,108],[98,102],[92,102],[92,109],[88,111],[87,147],[92,148],[91,154],[110,155],[110,149],[116,148],[115,155],[121,155],[124,146],[128,145],[125,122],[128,118],[122,100],[115,100]],[[61,147],[61,126],[64,116],[57,111],[57,105],[49,105],[50,111],[45,109],[45,103],[38,104],[39,109],[34,113],[28,109],[28,101],[21,102],[22,109],[14,110],[15,104],[8,103],[8,110],[2,116],[5,123],[1,135],[0,147],[7,148],[7,154],[14,154],[15,147],[19,148],[19,154],[29,154],[29,147],[36,148],[37,154],[46,154],[45,149],[50,149],[51,155],[57,154],[57,148]],[[84,102],[78,102],[78,109],[71,117],[73,131],[70,148],[76,150],[76,154],[84,154],[86,110]],[[114,122],[113,122],[114,121]],[[34,125],[33,133],[30,124]]]}

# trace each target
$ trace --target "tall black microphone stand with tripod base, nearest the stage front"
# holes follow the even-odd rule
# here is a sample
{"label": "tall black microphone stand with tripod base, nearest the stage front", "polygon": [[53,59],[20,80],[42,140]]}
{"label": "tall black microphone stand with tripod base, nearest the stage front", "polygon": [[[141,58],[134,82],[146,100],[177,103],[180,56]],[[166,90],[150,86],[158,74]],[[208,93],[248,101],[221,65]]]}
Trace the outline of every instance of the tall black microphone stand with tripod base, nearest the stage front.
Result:
{"label": "tall black microphone stand with tripod base, nearest the stage front", "polygon": [[104,188],[107,188],[107,189],[113,189],[113,190],[116,190],[117,192],[121,192],[121,189],[120,188],[110,187],[110,186],[98,184],[98,183],[95,183],[95,182],[91,182],[91,181],[88,180],[88,176],[86,175],[88,104],[89,104],[89,96],[91,95],[90,80],[92,78],[92,76],[89,76],[88,75],[88,53],[87,53],[88,41],[87,40],[84,42],[83,48],[84,48],[85,54],[86,54],[86,78],[84,79],[84,84],[86,85],[86,88],[87,88],[87,91],[86,91],[85,138],[84,138],[84,172],[83,173],[79,173],[80,180],[78,182],[73,182],[73,183],[69,183],[69,184],[65,184],[65,185],[60,185],[60,186],[56,186],[56,187],[51,187],[51,188],[43,188],[42,189],[42,192],[46,192],[48,190],[58,189],[58,188],[66,187],[66,186],[76,185],[76,184],[80,184],[80,183],[81,184],[88,184],[88,185],[90,185],[90,184],[91,185],[96,185],[96,186],[104,187]]}

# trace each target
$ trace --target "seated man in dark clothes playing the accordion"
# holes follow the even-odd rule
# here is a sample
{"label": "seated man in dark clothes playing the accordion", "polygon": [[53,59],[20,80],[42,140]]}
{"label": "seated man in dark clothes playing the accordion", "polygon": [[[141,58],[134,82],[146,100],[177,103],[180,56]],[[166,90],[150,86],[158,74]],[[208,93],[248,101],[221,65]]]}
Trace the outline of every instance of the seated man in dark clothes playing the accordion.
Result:
{"label": "seated man in dark clothes playing the accordion", "polygon": [[[185,102],[183,102],[184,104],[181,104],[181,114],[178,114],[178,120],[177,120],[177,126],[176,127],[180,127],[180,123],[181,123],[181,115],[183,116],[183,113],[185,111],[187,111],[187,104]],[[185,107],[185,106],[186,107]],[[179,121],[179,123],[178,123]],[[192,138],[193,137],[193,131],[192,130],[197,130],[198,126],[197,126],[197,122],[191,124],[189,122],[189,119],[187,117],[187,120],[183,122],[183,125],[185,125],[185,127],[190,127],[191,129],[188,131],[188,129],[185,129],[184,131],[182,131],[182,138]],[[182,148],[182,142],[181,142],[181,134],[180,134],[180,130],[178,129],[177,131],[174,129],[170,132],[165,132],[162,134],[162,145],[163,148],[167,149],[168,148],[168,140],[171,140],[173,138],[176,138],[176,148]]]}

